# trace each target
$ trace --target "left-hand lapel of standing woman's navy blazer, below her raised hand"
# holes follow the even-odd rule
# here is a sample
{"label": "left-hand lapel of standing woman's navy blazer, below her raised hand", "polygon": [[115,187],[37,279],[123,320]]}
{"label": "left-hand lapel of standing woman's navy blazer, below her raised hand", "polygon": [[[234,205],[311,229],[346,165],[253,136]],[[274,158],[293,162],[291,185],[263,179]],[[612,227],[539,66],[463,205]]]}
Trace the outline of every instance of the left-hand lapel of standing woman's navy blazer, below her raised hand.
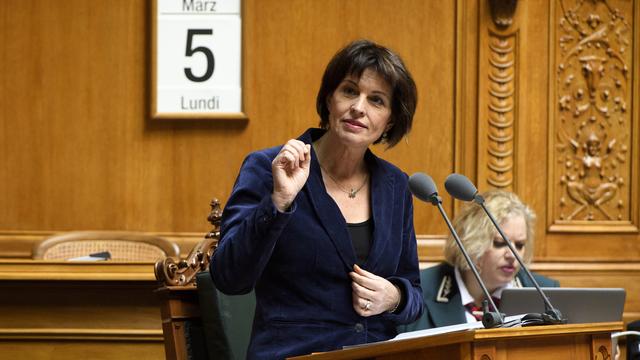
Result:
{"label": "left-hand lapel of standing woman's navy blazer, below her raised hand", "polygon": [[338,205],[333,201],[331,196],[327,194],[327,190],[322,182],[320,164],[316,159],[313,147],[311,151],[311,169],[309,178],[305,184],[307,196],[318,219],[320,219],[322,227],[324,227],[327,234],[329,234],[329,238],[338,251],[345,267],[351,271],[353,264],[356,263],[356,255],[353,250],[353,245],[351,244],[349,231],[347,230],[347,223]]}

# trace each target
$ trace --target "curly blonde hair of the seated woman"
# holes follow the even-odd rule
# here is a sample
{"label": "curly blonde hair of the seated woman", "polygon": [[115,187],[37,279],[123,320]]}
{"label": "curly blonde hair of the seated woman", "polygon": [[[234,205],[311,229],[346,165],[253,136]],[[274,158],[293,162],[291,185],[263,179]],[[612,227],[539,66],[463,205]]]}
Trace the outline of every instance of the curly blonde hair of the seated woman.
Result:
{"label": "curly blonde hair of the seated woman", "polygon": [[[514,216],[521,215],[524,217],[527,226],[527,239],[525,242],[527,251],[525,251],[522,260],[525,264],[529,264],[533,258],[533,228],[536,218],[533,210],[520,201],[518,196],[512,192],[491,190],[481,195],[485,200],[485,206],[498,224],[502,224]],[[469,257],[474,264],[477,264],[485,251],[493,245],[494,237],[499,236],[489,217],[484,213],[482,207],[476,203],[466,204],[460,215],[454,219],[453,227],[460,236],[460,241],[467,249]],[[451,235],[447,238],[444,246],[444,257],[449,264],[461,270],[469,270],[469,265]]]}

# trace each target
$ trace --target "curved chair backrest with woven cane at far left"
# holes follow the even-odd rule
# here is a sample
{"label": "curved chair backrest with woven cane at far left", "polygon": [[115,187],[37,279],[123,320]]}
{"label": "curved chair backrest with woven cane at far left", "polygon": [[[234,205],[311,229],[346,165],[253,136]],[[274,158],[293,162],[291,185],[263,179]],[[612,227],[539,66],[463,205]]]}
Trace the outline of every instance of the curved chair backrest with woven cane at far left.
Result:
{"label": "curved chair backrest with woven cane at far left", "polygon": [[111,261],[122,262],[155,262],[180,256],[178,245],[155,235],[129,231],[74,231],[37,243],[33,258],[69,260],[104,251],[111,254]]}

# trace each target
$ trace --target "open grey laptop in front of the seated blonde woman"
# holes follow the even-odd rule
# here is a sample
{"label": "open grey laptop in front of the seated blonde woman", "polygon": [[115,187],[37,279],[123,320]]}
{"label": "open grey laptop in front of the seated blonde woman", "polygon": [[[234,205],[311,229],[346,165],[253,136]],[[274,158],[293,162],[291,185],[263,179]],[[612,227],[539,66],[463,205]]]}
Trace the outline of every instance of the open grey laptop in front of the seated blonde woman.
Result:
{"label": "open grey laptop in front of the seated blonde woman", "polygon": [[[568,324],[622,321],[625,289],[558,287],[542,291]],[[510,288],[502,291],[499,308],[507,316],[543,313],[544,301],[536,288]]]}

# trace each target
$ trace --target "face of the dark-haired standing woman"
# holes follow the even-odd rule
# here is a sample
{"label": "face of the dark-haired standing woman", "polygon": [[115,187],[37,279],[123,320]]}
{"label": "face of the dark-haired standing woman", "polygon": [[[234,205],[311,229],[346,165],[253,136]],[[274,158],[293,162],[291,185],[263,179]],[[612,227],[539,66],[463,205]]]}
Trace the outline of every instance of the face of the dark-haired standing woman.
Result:
{"label": "face of the dark-haired standing woman", "polygon": [[327,99],[329,131],[343,142],[368,147],[391,128],[392,89],[371,69],[348,75]]}

